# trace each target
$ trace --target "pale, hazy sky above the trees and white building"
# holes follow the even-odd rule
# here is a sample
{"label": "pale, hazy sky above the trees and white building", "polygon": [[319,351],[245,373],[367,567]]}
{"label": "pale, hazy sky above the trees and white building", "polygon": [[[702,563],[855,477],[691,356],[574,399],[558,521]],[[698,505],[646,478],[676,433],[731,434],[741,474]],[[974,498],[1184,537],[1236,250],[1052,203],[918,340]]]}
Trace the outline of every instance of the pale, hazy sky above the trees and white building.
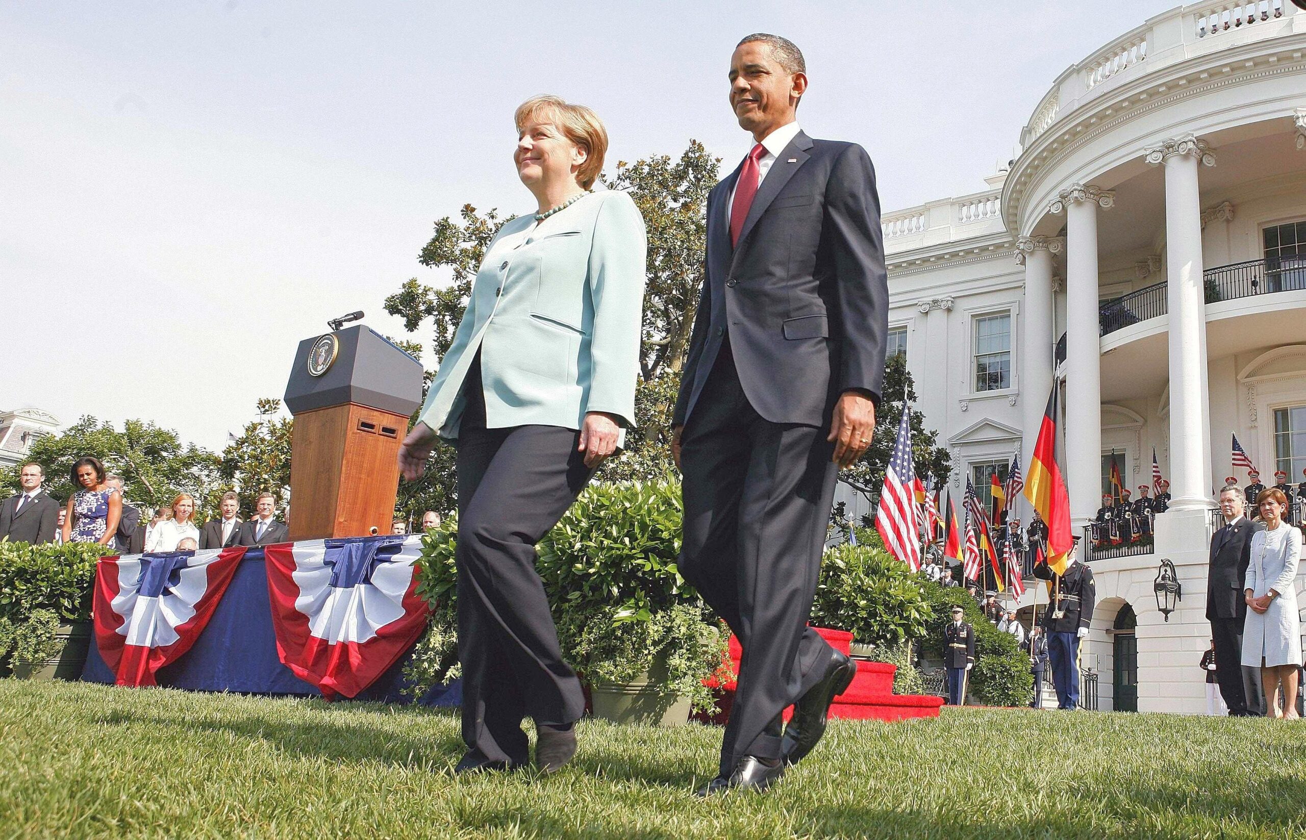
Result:
{"label": "pale, hazy sky above the trees and white building", "polygon": [[0,409],[221,449],[326,319],[404,334],[381,302],[441,281],[417,264],[435,219],[533,208],[528,95],[594,107],[610,166],[696,138],[733,167],[729,56],[777,33],[807,59],[799,121],[866,146],[891,210],[983,189],[1062,71],[1174,5],[0,4]]}

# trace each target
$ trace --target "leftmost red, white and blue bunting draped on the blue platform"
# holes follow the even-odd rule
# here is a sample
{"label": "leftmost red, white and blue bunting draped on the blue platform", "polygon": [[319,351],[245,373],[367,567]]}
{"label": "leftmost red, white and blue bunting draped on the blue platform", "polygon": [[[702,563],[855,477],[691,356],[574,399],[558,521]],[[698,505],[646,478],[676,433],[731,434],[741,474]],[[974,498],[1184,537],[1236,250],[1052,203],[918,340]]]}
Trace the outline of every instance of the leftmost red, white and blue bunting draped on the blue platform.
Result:
{"label": "leftmost red, white and blue bunting draped on the blue platform", "polygon": [[95,567],[99,654],[120,686],[154,686],[155,673],[191,649],[243,547],[106,557]]}

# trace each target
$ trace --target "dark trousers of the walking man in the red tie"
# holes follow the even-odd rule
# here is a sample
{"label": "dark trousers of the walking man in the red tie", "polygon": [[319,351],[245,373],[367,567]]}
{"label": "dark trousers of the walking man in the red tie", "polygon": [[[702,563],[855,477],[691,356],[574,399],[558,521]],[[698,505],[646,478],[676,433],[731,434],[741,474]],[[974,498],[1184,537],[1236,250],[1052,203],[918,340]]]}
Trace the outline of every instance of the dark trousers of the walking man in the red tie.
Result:
{"label": "dark trousers of the walking man in the red tie", "polygon": [[748,404],[724,345],[682,432],[680,573],[739,638],[743,658],[721,772],[780,758],[780,715],[825,674],[807,627],[835,499],[827,430],[772,423]]}

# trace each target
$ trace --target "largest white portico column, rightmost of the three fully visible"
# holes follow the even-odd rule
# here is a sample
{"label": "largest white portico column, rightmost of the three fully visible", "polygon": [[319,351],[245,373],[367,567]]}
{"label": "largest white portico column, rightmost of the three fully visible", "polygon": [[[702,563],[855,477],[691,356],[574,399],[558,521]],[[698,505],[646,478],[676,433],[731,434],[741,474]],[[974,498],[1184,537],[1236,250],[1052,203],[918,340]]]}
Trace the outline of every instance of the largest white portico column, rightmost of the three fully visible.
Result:
{"label": "largest white portico column, rightmost of the three fully visible", "polygon": [[1166,303],[1170,311],[1170,509],[1213,507],[1211,404],[1207,397],[1207,306],[1202,278],[1202,201],[1198,165],[1215,166],[1192,135],[1147,149],[1165,165]]}

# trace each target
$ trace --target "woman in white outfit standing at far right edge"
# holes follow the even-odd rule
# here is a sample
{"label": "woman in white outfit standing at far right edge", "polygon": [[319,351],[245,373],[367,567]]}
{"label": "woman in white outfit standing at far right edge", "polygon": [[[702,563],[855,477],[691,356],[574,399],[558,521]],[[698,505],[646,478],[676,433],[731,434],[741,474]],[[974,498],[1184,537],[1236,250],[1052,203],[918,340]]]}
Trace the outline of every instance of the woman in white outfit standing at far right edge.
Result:
{"label": "woman in white outfit standing at far right edge", "polygon": [[[1256,496],[1266,529],[1251,536],[1247,564],[1247,621],[1242,630],[1242,664],[1260,669],[1268,717],[1297,717],[1297,668],[1302,661],[1297,611],[1297,563],[1302,532],[1284,521],[1288,499],[1271,487]],[[1282,711],[1279,687],[1282,685]]]}

